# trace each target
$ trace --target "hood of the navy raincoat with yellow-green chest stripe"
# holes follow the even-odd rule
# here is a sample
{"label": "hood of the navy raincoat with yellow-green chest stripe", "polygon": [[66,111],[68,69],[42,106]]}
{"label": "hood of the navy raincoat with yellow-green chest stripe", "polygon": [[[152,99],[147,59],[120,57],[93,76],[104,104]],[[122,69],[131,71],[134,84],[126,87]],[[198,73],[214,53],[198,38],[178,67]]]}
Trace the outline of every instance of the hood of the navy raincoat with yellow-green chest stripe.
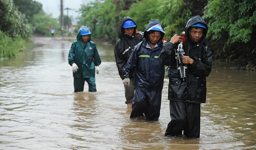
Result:
{"label": "hood of the navy raincoat with yellow-green chest stripe", "polygon": [[152,28],[158,28],[158,29],[160,29],[160,32],[162,32],[162,33],[161,33],[161,37],[160,37],[159,40],[162,41],[162,39],[164,38],[165,32],[164,32],[164,28],[163,28],[162,24],[160,24],[160,22],[159,22],[158,20],[152,20],[151,22],[149,22],[149,24],[148,24],[146,30],[144,31],[144,36],[143,36],[143,38],[148,38],[148,32],[149,32],[150,30],[152,30]]}

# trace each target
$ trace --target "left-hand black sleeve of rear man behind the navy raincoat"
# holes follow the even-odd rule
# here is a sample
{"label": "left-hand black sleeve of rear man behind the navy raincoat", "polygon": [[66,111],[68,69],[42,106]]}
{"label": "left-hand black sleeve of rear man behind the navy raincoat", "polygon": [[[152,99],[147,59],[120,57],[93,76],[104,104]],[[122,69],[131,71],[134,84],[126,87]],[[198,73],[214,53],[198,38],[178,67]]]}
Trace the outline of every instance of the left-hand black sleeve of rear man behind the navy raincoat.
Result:
{"label": "left-hand black sleeve of rear man behind the navy raincoat", "polygon": [[118,50],[119,43],[120,43],[120,39],[116,42],[114,54],[116,59],[116,66],[118,68],[118,73],[119,73],[119,76],[122,78],[123,77],[122,70],[126,64],[126,61],[121,57],[122,56],[121,52],[120,50]]}

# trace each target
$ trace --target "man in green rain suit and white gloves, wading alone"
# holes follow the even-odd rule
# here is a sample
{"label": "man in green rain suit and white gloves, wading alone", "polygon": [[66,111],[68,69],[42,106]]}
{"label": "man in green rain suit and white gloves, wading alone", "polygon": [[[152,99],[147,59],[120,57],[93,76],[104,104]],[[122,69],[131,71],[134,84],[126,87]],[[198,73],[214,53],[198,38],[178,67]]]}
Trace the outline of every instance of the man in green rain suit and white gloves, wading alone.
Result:
{"label": "man in green rain suit and white gloves, wading alone", "polygon": [[99,74],[100,63],[96,45],[91,41],[91,32],[86,25],[83,25],[78,30],[68,55],[68,64],[73,70],[74,92],[84,91],[84,81],[88,83],[89,92],[96,92],[95,70]]}

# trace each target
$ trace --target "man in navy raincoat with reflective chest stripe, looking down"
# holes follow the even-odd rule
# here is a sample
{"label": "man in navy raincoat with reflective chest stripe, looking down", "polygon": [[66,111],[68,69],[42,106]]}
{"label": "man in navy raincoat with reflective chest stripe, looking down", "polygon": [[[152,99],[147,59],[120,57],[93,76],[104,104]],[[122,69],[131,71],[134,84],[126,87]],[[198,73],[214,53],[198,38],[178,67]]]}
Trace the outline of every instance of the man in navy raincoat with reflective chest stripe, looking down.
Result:
{"label": "man in navy raincoat with reflective chest stripe, looking down", "polygon": [[157,121],[160,116],[164,65],[158,56],[162,50],[164,34],[160,22],[152,20],[144,31],[144,39],[134,48],[123,70],[124,85],[130,84],[130,77],[134,73],[132,119],[146,117],[148,121]]}

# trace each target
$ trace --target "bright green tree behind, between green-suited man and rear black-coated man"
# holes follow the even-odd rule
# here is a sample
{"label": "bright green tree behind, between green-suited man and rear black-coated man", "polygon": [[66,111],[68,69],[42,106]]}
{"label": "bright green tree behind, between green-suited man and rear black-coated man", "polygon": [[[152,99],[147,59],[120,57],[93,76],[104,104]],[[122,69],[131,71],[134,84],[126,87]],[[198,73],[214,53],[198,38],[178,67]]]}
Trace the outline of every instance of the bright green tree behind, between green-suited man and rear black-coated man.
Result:
{"label": "bright green tree behind, between green-suited man and rear black-coated man", "polygon": [[[91,2],[80,8],[82,24],[86,24],[92,36],[105,38],[109,42],[115,43],[118,39],[118,31],[120,30],[120,21],[123,10],[128,10],[132,3],[140,0],[104,0],[102,2]],[[80,24],[80,25],[82,25]],[[98,31],[96,32],[96,28]]]}

